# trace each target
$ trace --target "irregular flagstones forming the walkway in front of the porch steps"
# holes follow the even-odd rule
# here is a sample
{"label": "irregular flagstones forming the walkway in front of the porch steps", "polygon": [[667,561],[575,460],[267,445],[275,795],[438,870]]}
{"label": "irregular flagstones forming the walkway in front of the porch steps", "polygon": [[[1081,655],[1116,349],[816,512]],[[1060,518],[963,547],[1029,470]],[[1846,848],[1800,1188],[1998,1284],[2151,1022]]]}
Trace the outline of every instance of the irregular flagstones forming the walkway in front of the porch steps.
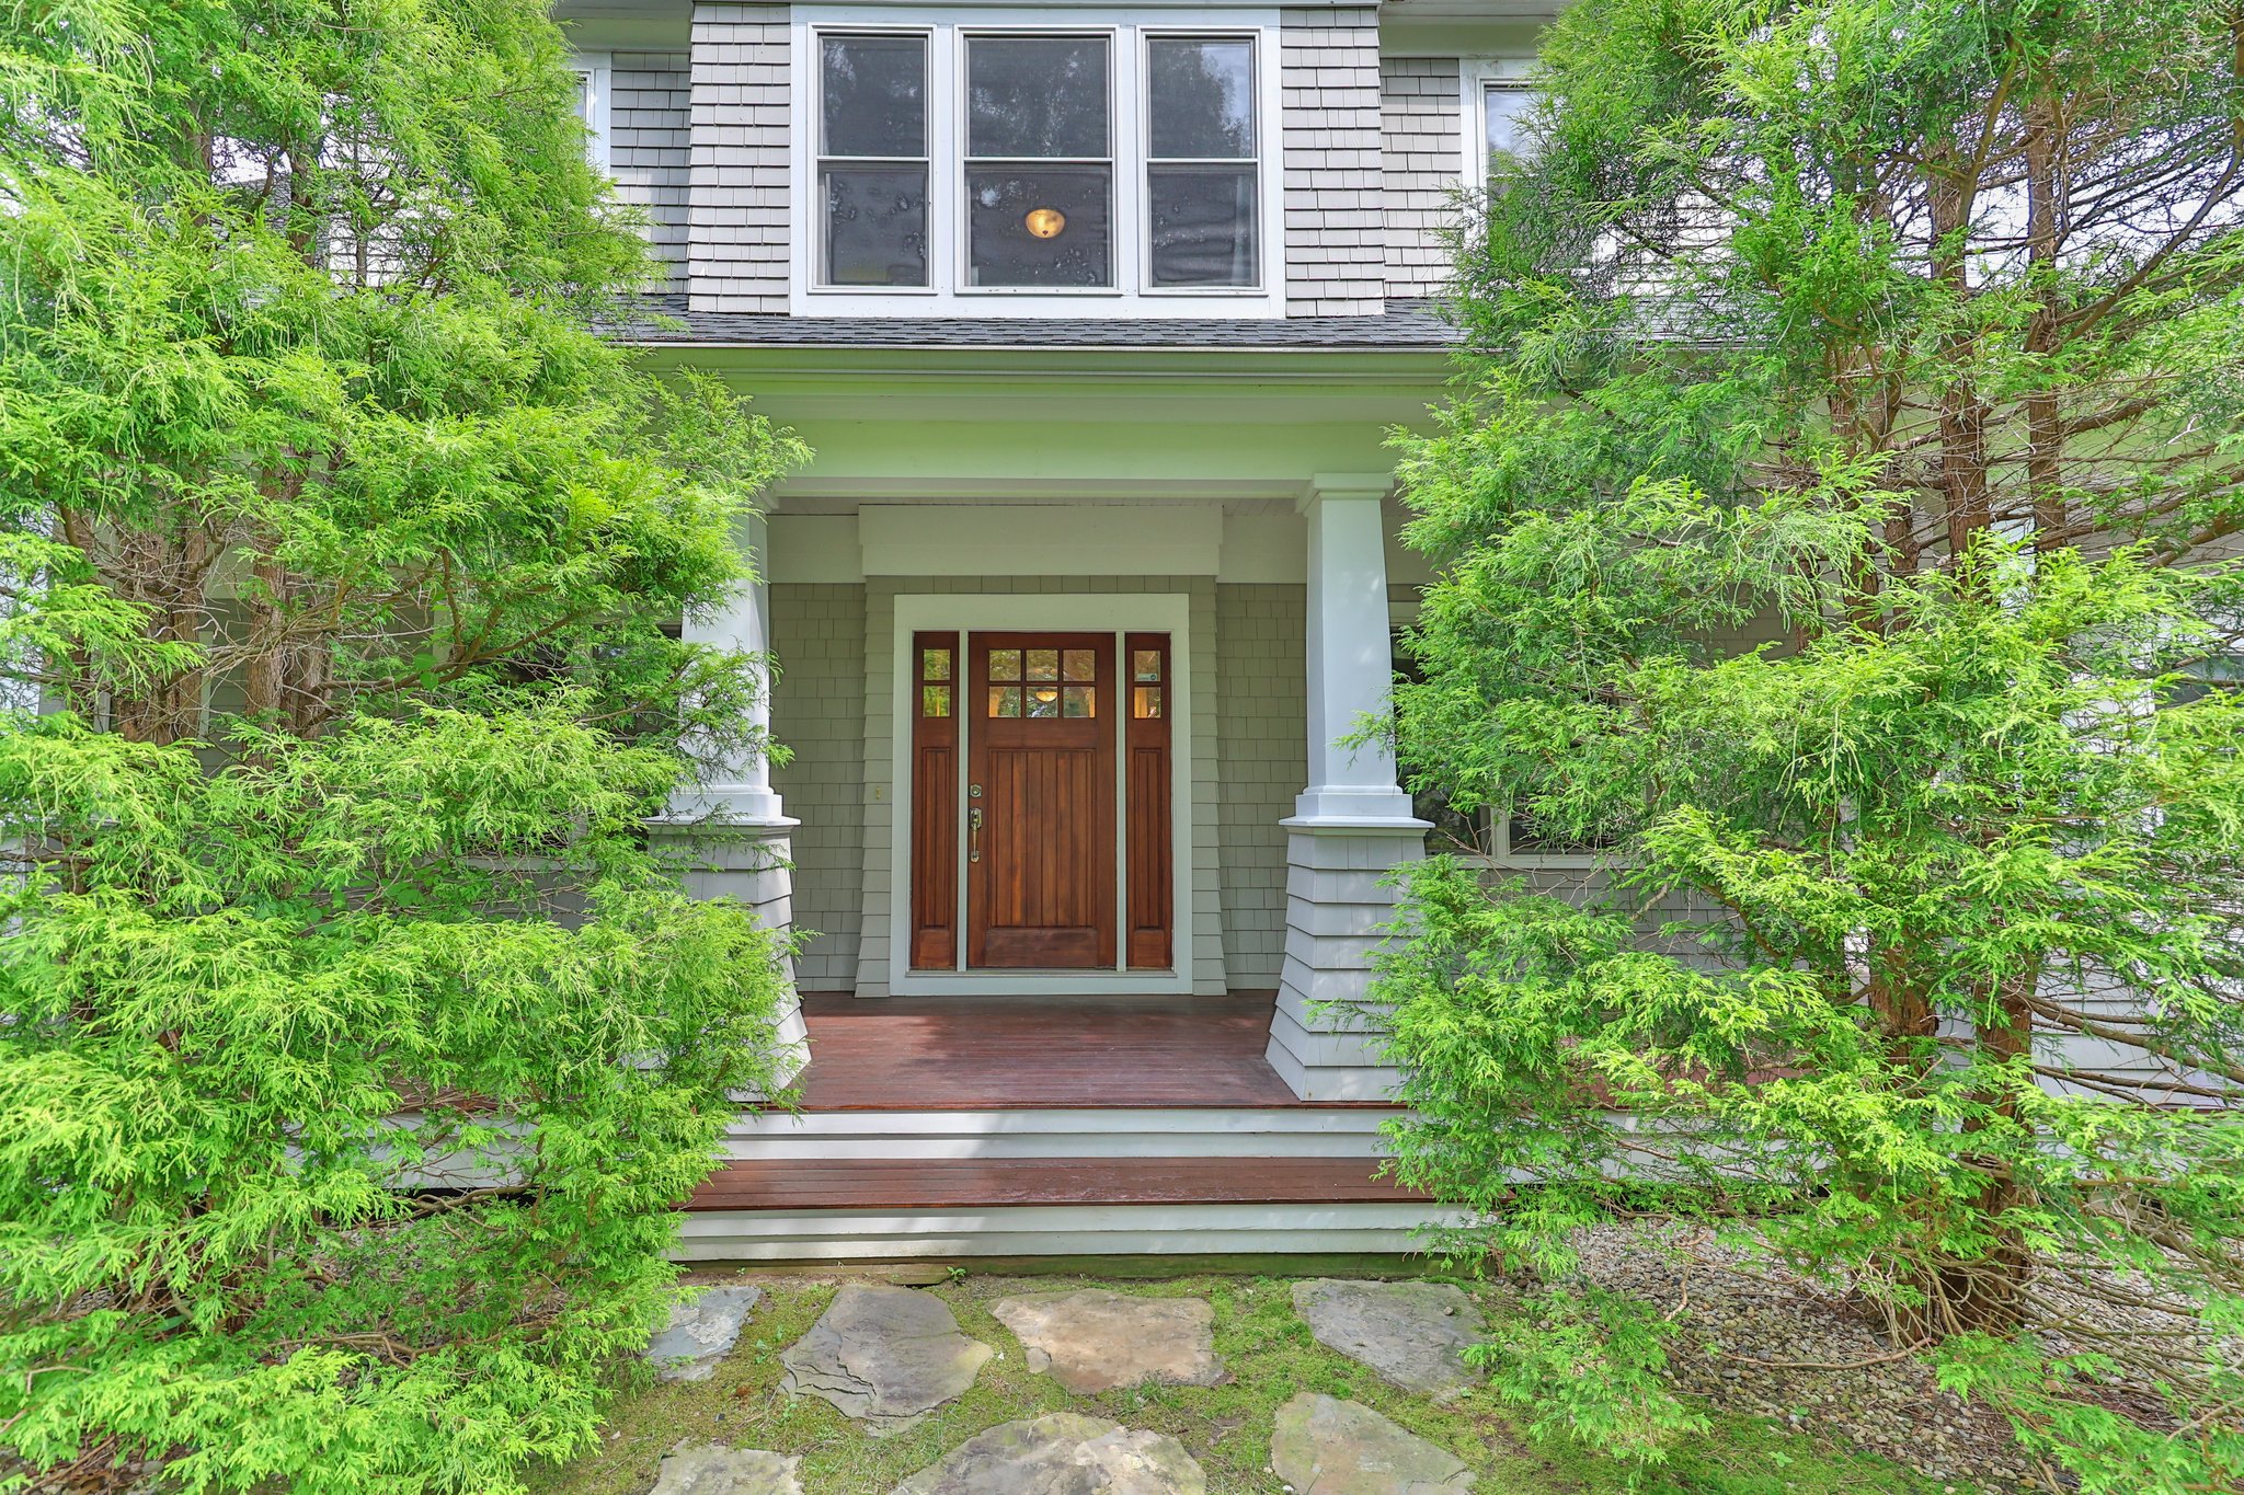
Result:
{"label": "irregular flagstones forming the walkway in front of the porch steps", "polygon": [[[678,1309],[649,1349],[662,1378],[700,1381],[741,1336],[756,1289],[714,1289]],[[1463,1347],[1486,1327],[1436,1282],[1297,1282],[1295,1311],[1322,1345],[1396,1385],[1456,1396],[1477,1376]],[[1111,1289],[1019,1293],[990,1313],[1021,1340],[1032,1374],[1070,1394],[1138,1385],[1218,1385],[1214,1307]],[[848,1282],[785,1352],[783,1390],[819,1396],[871,1437],[911,1428],[956,1401],[996,1354],[969,1338],[942,1298]],[[723,1443],[678,1446],[649,1495],[806,1495],[799,1459]],[[1355,1401],[1299,1394],[1277,1412],[1270,1468],[1304,1495],[1456,1495],[1463,1459]],[[900,1484],[893,1495],[1205,1495],[1207,1477],[1174,1437],[1075,1412],[987,1428]],[[812,1491],[810,1495],[842,1495]],[[857,1495],[850,1491],[848,1495]]]}

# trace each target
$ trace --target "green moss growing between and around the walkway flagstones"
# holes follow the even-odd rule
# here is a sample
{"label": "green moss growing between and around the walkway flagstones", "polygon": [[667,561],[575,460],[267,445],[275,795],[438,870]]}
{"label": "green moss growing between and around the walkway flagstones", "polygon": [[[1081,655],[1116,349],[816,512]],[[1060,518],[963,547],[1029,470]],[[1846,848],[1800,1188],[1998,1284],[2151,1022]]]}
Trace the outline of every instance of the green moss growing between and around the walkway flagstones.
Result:
{"label": "green moss growing between and around the walkway flagstones", "polygon": [[[882,1495],[976,1432],[1039,1412],[1086,1412],[1167,1432],[1207,1470],[1210,1495],[1277,1495],[1270,1426],[1295,1392],[1326,1392],[1376,1408],[1418,1437],[1450,1448],[1481,1475],[1486,1495],[1620,1495],[1634,1468],[1557,1441],[1530,1441],[1492,1396],[1441,1408],[1380,1381],[1369,1367],[1317,1345],[1293,1311],[1290,1278],[1102,1278],[969,1275],[922,1291],[958,1313],[958,1327],[996,1349],[974,1387],[918,1428],[889,1439],[815,1396],[783,1396],[779,1352],[833,1300],[842,1278],[741,1273],[765,1289],[734,1354],[700,1383],[626,1392],[610,1412],[599,1452],[565,1468],[536,1468],[536,1495],[644,1495],[655,1466],[680,1439],[801,1455],[808,1495]],[[990,1316],[990,1300],[1021,1291],[1115,1287],[1147,1298],[1207,1298],[1216,1309],[1216,1354],[1232,1381],[1214,1387],[1135,1387],[1070,1396],[1050,1376],[1028,1374],[1021,1343]],[[1495,1293],[1461,1282],[1495,1320]],[[1928,1482],[1874,1455],[1818,1446],[1773,1423],[1717,1417],[1712,1432],[1681,1448],[1665,1470],[1634,1484],[1643,1495],[1939,1495]]]}

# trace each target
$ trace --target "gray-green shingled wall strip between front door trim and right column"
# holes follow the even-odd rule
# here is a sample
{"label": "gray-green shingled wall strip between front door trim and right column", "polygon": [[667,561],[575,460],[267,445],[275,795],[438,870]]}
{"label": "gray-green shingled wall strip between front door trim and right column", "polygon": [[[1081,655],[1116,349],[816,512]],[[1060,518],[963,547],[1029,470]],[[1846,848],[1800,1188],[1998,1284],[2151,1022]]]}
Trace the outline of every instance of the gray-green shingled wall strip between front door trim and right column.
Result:
{"label": "gray-green shingled wall strip between front door trim and right column", "polygon": [[1270,991],[1286,959],[1286,827],[1308,782],[1304,585],[1216,585],[1223,973]]}

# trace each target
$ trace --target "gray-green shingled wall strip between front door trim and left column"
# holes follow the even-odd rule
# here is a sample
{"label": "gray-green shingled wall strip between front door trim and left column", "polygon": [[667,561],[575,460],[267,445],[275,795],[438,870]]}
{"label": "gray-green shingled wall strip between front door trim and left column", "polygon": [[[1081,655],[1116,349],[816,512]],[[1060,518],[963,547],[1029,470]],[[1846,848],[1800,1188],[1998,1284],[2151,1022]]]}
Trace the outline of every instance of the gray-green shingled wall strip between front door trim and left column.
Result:
{"label": "gray-green shingled wall strip between front door trim and left column", "polygon": [[774,583],[772,731],[794,753],[772,769],[794,832],[794,959],[803,991],[857,984],[864,914],[864,585]]}

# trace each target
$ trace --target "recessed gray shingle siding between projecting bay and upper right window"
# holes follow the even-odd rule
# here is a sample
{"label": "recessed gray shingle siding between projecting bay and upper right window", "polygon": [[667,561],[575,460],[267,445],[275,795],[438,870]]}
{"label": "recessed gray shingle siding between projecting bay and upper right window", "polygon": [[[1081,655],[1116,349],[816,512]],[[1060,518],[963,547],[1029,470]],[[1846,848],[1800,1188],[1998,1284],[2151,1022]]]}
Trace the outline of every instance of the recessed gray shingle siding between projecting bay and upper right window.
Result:
{"label": "recessed gray shingle siding between projecting bay and upper right window", "polygon": [[1461,99],[1463,76],[1454,56],[1380,61],[1389,296],[1434,296],[1450,280],[1443,226],[1456,215]]}

